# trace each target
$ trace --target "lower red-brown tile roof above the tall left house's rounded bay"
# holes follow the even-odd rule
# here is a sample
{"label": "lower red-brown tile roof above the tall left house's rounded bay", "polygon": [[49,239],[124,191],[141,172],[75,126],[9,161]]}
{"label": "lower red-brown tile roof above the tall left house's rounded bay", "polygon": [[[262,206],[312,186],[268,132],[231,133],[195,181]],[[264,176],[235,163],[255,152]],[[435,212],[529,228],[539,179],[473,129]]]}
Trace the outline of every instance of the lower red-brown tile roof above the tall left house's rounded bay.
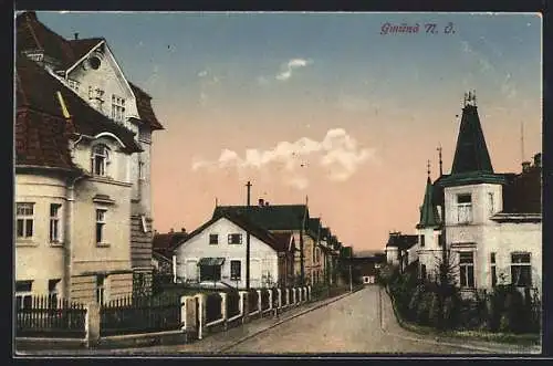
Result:
{"label": "lower red-brown tile roof above the tall left house's rounded bay", "polygon": [[[56,93],[63,96],[71,118],[62,112]],[[86,104],[44,69],[25,56],[15,60],[15,161],[18,165],[74,168],[69,154],[73,133],[116,135],[126,151],[140,151],[134,133],[117,125]]]}

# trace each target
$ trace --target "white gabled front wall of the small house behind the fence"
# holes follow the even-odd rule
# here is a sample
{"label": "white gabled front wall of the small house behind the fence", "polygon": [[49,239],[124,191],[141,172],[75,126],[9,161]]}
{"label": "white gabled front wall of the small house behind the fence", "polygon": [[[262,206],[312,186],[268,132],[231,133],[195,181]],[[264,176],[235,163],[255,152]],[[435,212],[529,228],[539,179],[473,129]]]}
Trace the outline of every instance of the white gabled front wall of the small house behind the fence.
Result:
{"label": "white gabled front wall of the small house behind the fence", "polygon": [[[209,244],[209,234],[211,233],[219,234],[218,244]],[[241,233],[242,244],[229,244],[227,240],[229,233]],[[177,255],[177,278],[184,282],[187,279],[190,280],[190,276],[187,276],[187,261],[199,261],[200,258],[225,258],[221,269],[222,282],[232,286],[237,285],[237,281],[230,279],[230,261],[240,260],[242,262],[241,281],[238,281],[238,286],[246,286],[246,231],[225,218],[219,219],[209,228],[189,239],[178,247],[175,252]],[[254,268],[255,263],[261,268],[257,270]],[[251,287],[263,285],[261,274],[267,272],[270,273],[273,282],[279,281],[276,252],[254,236],[250,236],[250,264]],[[199,268],[197,268],[196,276],[199,276]]]}

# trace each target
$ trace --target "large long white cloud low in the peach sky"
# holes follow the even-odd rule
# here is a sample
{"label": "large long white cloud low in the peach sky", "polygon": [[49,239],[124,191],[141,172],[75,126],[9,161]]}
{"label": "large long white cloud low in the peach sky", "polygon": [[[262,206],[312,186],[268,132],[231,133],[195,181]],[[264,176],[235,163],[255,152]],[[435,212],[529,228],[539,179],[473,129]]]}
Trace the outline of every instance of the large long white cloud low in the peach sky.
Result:
{"label": "large long white cloud low in the peach sky", "polygon": [[[343,128],[328,129],[325,137],[314,140],[302,137],[296,142],[280,142],[273,148],[262,150],[246,149],[241,157],[238,153],[223,149],[217,160],[197,160],[192,170],[199,169],[263,169],[270,165],[283,167],[283,182],[298,189],[305,189],[310,181],[302,170],[319,167],[332,181],[345,181],[359,166],[374,157],[374,149],[359,148],[357,140]],[[313,164],[312,164],[313,163]]]}

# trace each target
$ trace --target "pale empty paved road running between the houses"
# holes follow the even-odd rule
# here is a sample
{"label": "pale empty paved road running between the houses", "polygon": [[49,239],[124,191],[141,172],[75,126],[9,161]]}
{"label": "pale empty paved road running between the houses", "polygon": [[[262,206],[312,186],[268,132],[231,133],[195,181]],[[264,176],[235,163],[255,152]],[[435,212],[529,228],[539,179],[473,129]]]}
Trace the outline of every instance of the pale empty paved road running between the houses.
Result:
{"label": "pale empty paved road running between the houses", "polygon": [[[225,349],[225,353],[422,353],[529,352],[512,346],[441,341],[403,330],[377,286],[291,320]],[[382,304],[382,307],[379,306]],[[382,310],[380,310],[382,309]]]}

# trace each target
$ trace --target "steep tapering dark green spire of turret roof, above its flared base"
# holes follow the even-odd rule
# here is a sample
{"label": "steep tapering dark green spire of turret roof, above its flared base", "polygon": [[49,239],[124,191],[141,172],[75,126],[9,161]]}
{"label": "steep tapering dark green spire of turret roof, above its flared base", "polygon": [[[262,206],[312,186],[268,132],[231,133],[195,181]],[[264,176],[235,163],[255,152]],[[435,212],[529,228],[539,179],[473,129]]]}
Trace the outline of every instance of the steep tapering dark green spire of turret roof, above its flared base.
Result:
{"label": "steep tapering dark green spire of turret roof, above its flared base", "polygon": [[476,171],[493,174],[493,167],[477,106],[469,104],[462,108],[451,175]]}

